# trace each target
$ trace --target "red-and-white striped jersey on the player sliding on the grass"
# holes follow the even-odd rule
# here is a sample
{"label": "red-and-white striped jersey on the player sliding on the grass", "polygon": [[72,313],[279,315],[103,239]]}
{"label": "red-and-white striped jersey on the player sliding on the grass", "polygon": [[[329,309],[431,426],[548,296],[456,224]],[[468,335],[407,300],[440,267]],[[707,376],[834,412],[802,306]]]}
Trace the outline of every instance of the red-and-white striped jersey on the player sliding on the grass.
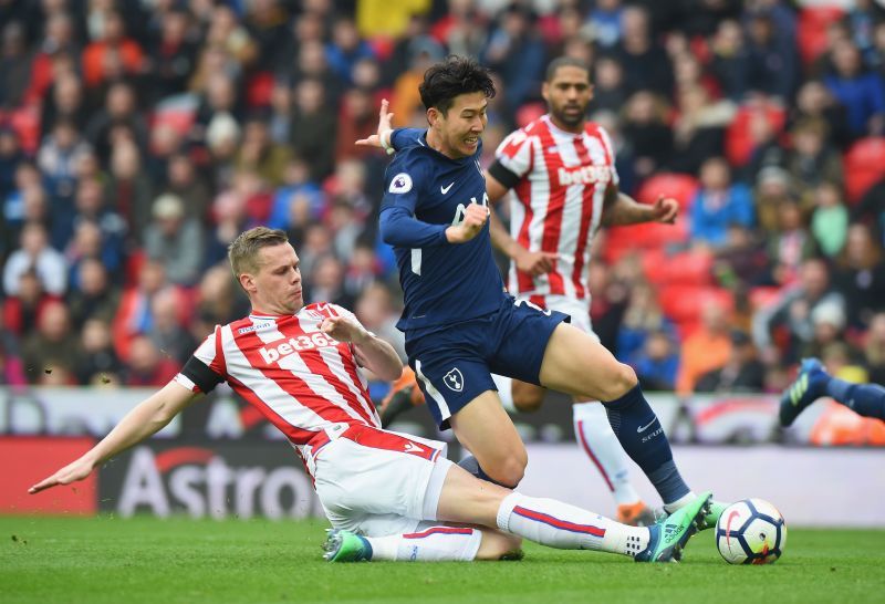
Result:
{"label": "red-and-white striped jersey on the player sliding on the grass", "polygon": [[[294,315],[244,319],[216,327],[194,356],[230,384],[300,452],[320,433],[355,424],[381,427],[351,344],[320,331],[323,319],[346,315],[315,303]],[[195,392],[183,373],[176,381]]]}

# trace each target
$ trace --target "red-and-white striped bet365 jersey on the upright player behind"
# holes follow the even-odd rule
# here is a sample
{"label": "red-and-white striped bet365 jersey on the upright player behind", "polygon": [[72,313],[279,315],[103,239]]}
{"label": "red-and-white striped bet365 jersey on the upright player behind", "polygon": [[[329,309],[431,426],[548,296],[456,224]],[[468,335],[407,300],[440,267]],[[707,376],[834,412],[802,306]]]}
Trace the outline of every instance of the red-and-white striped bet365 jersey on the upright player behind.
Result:
{"label": "red-and-white striped bet365 jersey on the upright player behind", "polygon": [[586,298],[590,242],[605,190],[618,181],[608,135],[592,122],[569,133],[543,115],[504,138],[496,158],[520,177],[510,196],[510,235],[530,251],[558,254],[553,271],[534,278],[511,262],[510,293],[539,302],[548,294]]}

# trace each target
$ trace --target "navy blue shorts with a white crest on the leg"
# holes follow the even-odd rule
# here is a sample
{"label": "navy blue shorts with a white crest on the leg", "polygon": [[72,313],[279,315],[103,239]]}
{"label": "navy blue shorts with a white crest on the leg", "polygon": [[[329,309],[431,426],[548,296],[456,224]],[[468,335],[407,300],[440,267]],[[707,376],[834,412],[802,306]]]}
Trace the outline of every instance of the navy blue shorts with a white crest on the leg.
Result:
{"label": "navy blue shorts with a white crest on the leg", "polygon": [[568,314],[508,296],[491,314],[407,332],[408,364],[440,429],[473,398],[497,392],[492,373],[539,384],[546,343],[563,321]]}

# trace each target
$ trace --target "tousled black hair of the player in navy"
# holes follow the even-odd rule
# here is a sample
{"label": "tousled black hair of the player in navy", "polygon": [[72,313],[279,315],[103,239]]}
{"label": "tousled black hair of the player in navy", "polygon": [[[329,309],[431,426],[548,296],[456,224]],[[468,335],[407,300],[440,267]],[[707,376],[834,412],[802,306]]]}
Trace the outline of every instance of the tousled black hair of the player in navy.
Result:
{"label": "tousled black hair of the player in navy", "polygon": [[445,115],[459,94],[482,92],[491,98],[496,91],[489,70],[472,59],[451,54],[424,72],[418,92],[425,108],[436,107]]}

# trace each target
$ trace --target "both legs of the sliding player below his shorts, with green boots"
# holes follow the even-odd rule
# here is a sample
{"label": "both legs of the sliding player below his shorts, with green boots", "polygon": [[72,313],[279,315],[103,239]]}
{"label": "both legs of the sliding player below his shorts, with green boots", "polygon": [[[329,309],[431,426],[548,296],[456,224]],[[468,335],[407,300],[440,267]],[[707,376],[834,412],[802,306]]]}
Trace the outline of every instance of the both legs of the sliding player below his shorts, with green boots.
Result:
{"label": "both legs of the sliding player below his shorts, with green boots", "polygon": [[331,562],[518,558],[522,538],[549,548],[669,562],[680,559],[688,539],[702,523],[709,499],[709,492],[701,493],[658,524],[629,527],[554,499],[528,497],[480,481],[451,467],[436,514],[436,522],[451,524],[428,524],[410,533],[382,537],[333,530],[326,538],[324,558]]}

